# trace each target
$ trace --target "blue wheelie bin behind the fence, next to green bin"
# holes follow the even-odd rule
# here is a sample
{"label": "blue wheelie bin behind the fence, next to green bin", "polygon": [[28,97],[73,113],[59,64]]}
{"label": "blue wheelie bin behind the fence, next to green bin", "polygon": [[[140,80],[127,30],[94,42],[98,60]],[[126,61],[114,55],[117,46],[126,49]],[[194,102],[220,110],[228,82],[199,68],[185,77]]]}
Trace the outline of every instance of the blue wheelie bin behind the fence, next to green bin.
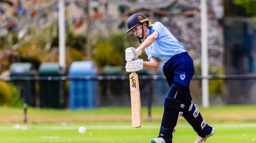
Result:
{"label": "blue wheelie bin behind the fence, next to green bin", "polygon": [[[69,67],[69,76],[97,76],[97,67],[91,61],[73,62]],[[69,83],[70,109],[90,109],[97,107],[97,80],[71,80]]]}

